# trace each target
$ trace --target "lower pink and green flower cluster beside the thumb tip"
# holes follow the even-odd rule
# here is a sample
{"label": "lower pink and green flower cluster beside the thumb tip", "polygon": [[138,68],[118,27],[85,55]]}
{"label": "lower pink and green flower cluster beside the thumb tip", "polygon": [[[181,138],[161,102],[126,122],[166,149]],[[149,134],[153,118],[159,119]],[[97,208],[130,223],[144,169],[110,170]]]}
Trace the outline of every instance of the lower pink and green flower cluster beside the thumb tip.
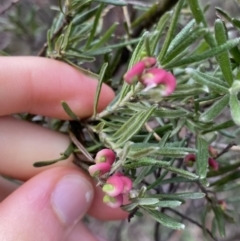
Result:
{"label": "lower pink and green flower cluster beside the thumb tip", "polygon": [[[89,167],[88,171],[93,177],[100,177],[109,172],[116,159],[115,153],[111,149],[99,151],[95,157],[95,165]],[[123,204],[123,195],[132,189],[132,180],[124,176],[121,172],[116,172],[110,176],[103,185],[103,202],[112,208],[120,207]]]}

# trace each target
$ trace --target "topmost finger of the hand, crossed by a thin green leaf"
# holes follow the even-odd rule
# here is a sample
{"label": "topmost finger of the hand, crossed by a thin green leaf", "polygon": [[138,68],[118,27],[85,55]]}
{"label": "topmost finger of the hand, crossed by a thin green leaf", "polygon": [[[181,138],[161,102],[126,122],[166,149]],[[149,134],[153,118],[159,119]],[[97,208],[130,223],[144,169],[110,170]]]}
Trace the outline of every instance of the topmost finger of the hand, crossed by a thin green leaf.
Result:
{"label": "topmost finger of the hand, crossed by a thin green leaf", "polygon": [[[57,60],[40,57],[0,57],[0,116],[29,112],[69,119],[66,101],[81,118],[92,114],[97,80]],[[114,97],[103,85],[98,111]]]}

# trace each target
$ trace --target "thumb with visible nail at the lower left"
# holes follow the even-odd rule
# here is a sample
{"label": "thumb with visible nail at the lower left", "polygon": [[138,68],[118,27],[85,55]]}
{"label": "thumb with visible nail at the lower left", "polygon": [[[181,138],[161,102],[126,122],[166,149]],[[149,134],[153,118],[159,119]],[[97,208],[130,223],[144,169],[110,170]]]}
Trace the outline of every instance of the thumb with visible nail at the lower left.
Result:
{"label": "thumb with visible nail at the lower left", "polygon": [[93,187],[78,170],[41,172],[0,204],[0,240],[67,240],[92,199]]}

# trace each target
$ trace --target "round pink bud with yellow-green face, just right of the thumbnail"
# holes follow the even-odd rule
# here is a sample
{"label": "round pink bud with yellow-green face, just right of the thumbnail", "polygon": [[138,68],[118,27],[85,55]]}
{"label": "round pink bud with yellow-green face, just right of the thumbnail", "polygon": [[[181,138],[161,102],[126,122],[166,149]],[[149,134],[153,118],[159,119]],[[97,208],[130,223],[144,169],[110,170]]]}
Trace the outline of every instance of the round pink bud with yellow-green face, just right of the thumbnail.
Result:
{"label": "round pink bud with yellow-green face, just right of the thumbnail", "polygon": [[103,186],[102,190],[111,197],[116,197],[122,193],[124,188],[124,183],[119,176],[111,176],[107,179],[106,184]]}

